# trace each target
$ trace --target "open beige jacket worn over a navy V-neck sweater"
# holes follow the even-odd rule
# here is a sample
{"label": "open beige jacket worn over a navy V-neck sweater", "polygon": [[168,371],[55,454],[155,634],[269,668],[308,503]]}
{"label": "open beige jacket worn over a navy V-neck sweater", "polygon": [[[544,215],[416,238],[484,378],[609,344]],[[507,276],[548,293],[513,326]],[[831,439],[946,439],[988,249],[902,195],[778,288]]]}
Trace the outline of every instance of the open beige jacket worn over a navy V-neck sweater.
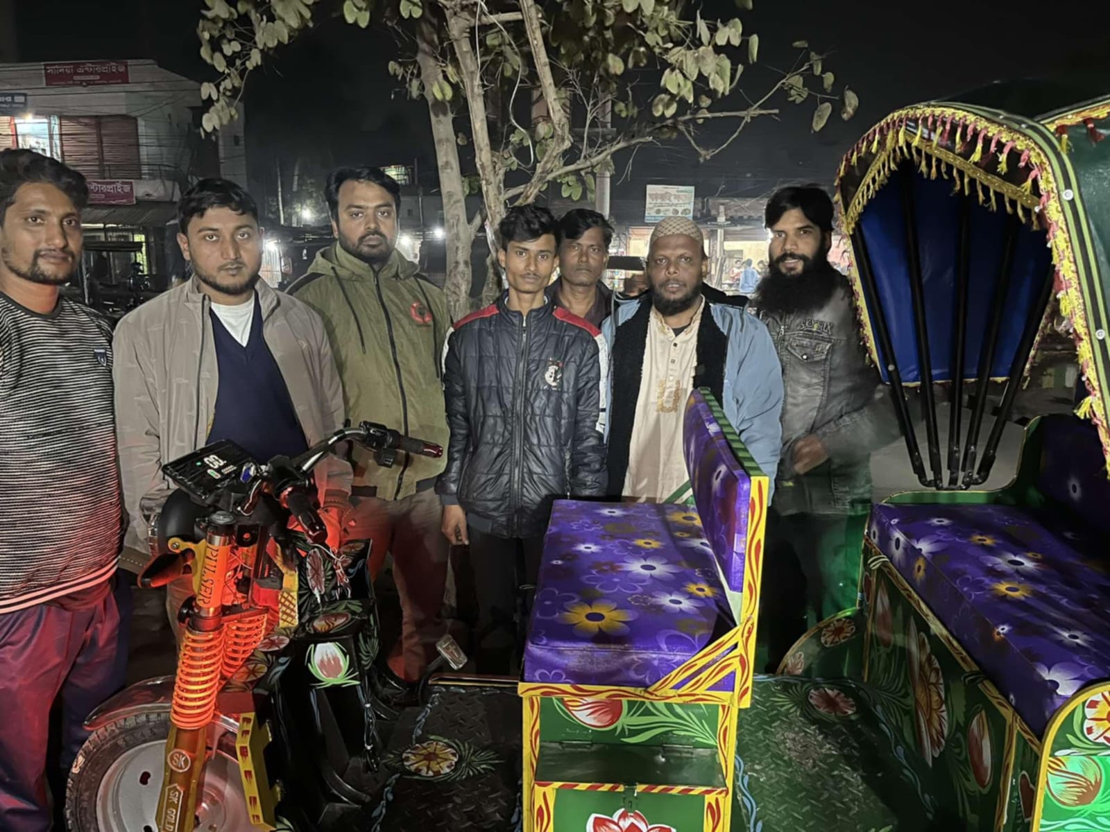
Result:
{"label": "open beige jacket worn over a navy V-neck sweater", "polygon": [[[320,442],[343,426],[343,388],[320,315],[264,281],[255,286],[262,334],[289,387],[304,438]],[[203,447],[215,414],[219,389],[209,300],[195,278],[127,314],[112,342],[115,432],[123,501],[130,525],[124,566],[145,562],[143,497],[167,496],[162,465]],[[351,466],[329,457],[317,470],[321,501],[346,505]],[[141,566],[141,564],[140,564]]]}

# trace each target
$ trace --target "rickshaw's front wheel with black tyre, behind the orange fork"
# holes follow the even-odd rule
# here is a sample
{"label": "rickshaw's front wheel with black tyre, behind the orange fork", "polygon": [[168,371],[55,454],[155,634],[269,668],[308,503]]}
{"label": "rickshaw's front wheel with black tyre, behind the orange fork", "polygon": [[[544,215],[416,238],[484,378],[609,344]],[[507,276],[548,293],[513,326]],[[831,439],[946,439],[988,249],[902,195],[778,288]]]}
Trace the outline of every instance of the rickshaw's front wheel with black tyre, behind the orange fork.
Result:
{"label": "rickshaw's front wheel with black tyre, behind the orange fork", "polygon": [[[169,733],[169,710],[121,717],[94,731],[70,771],[65,790],[69,832],[158,832],[155,816]],[[255,830],[246,811],[233,742],[221,742],[209,758],[195,816],[199,832]]]}

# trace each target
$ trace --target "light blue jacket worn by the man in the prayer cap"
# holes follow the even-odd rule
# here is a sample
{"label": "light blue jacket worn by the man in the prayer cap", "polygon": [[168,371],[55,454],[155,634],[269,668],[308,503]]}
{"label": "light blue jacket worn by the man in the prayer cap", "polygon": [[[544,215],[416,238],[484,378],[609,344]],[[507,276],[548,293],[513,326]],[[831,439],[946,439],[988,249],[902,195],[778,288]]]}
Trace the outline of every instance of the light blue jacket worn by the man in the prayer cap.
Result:
{"label": "light blue jacket worn by the man in the prayer cap", "polygon": [[[607,400],[614,418],[606,420],[606,440],[610,443],[614,439],[624,443],[630,439],[630,436],[610,436],[613,427],[620,429],[618,408],[628,406],[627,402],[620,404],[614,402],[614,387],[618,388],[617,395],[622,395],[620,381],[615,376],[636,372],[638,367],[632,366],[636,362],[636,355],[639,356],[639,366],[643,366],[643,352],[646,346],[646,344],[634,345],[635,352],[629,352],[632,347],[618,348],[623,345],[615,343],[617,329],[627,325],[637,312],[642,312],[646,303],[648,302],[637,301],[619,304],[615,314],[606,318],[602,327],[613,361]],[[710,303],[708,300],[706,303],[708,310],[702,314],[698,331],[699,366],[695,375],[704,386],[720,390],[720,405],[725,417],[739,435],[748,453],[759,464],[763,473],[770,478],[774,488],[783,440],[780,422],[783,369],[775,343],[766,325],[755,315],[735,306]],[[724,362],[719,361],[720,347],[724,347]],[[628,356],[630,364],[622,366],[623,355]],[[714,383],[715,374],[719,374],[719,384]],[[635,408],[635,400],[630,406]],[[610,476],[613,474],[610,471]]]}

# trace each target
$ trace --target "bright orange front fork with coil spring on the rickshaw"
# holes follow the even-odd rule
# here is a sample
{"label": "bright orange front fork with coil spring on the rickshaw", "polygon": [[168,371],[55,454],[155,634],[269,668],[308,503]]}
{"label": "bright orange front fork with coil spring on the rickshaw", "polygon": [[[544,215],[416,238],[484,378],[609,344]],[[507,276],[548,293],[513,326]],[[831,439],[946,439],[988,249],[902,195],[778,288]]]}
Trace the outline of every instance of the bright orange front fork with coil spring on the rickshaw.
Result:
{"label": "bright orange front fork with coil spring on the rickshaw", "polygon": [[234,545],[234,518],[218,511],[209,518],[192,615],[184,628],[173,683],[165,775],[158,801],[159,832],[191,832],[196,788],[204,771],[208,728],[215,717],[224,663],[223,588]]}

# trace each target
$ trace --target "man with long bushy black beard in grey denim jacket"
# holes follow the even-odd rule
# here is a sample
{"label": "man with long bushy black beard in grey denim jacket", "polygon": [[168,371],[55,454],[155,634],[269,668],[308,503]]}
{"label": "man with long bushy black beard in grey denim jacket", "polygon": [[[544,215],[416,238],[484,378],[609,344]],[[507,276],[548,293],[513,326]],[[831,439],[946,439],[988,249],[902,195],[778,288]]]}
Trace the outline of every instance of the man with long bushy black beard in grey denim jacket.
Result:
{"label": "man with long bushy black beard in grey denim jacket", "polygon": [[833,202],[814,185],[767,203],[768,273],[753,305],[783,364],[783,454],[767,526],[765,633],[771,669],[814,621],[856,602],[870,455],[898,437],[860,347],[851,288],[828,262]]}

